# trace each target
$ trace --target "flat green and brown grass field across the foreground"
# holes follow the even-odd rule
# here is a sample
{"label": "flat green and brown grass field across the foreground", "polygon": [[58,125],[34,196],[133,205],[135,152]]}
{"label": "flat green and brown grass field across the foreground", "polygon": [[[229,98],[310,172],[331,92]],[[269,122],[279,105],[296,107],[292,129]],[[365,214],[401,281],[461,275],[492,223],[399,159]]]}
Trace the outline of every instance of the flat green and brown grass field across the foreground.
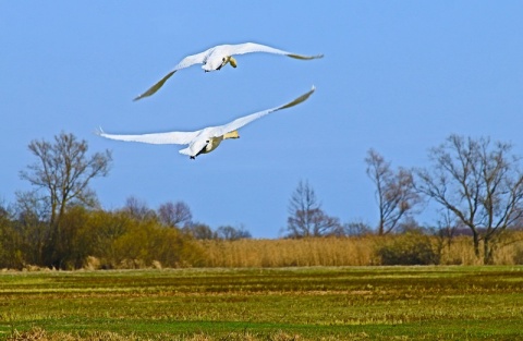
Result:
{"label": "flat green and brown grass field across the foreground", "polygon": [[0,273],[8,340],[523,340],[523,267]]}

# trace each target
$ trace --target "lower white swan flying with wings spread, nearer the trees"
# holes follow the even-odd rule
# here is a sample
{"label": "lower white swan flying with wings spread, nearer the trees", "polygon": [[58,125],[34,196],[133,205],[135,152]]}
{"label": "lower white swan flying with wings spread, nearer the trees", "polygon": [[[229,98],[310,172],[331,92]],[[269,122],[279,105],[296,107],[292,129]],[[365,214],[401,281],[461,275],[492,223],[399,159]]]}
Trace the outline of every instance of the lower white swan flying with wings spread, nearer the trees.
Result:
{"label": "lower white swan flying with wings spread, nearer the trees", "polygon": [[148,144],[175,144],[175,145],[188,145],[188,147],[181,149],[180,154],[188,155],[191,159],[194,159],[200,154],[206,154],[215,150],[223,139],[227,138],[239,138],[238,130],[254,120],[257,120],[266,114],[271,112],[294,107],[295,105],[305,101],[315,90],[313,86],[312,89],[297,97],[296,99],[276,107],[259,111],[256,113],[247,114],[245,117],[239,118],[230,123],[219,125],[219,126],[208,126],[195,132],[168,132],[168,133],[154,133],[154,134],[143,134],[143,135],[117,135],[117,134],[107,134],[101,129],[96,132],[97,135],[111,139],[127,141],[127,142],[142,142]]}

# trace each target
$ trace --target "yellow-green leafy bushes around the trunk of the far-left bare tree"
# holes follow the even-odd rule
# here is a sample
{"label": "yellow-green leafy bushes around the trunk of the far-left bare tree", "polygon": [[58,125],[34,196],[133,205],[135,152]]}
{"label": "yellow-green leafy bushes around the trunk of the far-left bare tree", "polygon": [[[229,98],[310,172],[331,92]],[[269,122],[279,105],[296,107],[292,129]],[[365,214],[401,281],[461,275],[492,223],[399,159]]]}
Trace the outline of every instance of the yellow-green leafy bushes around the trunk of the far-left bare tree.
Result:
{"label": "yellow-green leafy bushes around the trunk of the far-left bare tree", "polygon": [[[46,224],[41,224],[45,227]],[[202,246],[178,228],[168,228],[155,217],[137,220],[123,210],[86,210],[74,207],[61,222],[59,268],[187,267],[203,264]],[[49,266],[45,241],[32,241],[20,221],[0,221],[0,267],[22,269]]]}

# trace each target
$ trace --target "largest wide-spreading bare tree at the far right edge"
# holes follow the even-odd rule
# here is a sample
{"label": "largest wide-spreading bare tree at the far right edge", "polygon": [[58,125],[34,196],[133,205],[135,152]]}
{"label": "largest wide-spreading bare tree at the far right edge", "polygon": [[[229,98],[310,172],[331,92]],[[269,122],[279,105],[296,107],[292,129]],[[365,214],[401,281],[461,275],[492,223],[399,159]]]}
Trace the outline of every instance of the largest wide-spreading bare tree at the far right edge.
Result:
{"label": "largest wide-spreading bare tree at the far right edge", "polygon": [[501,233],[523,217],[523,172],[512,146],[451,135],[430,150],[433,171],[417,170],[418,191],[451,211],[473,235],[474,252],[494,261]]}

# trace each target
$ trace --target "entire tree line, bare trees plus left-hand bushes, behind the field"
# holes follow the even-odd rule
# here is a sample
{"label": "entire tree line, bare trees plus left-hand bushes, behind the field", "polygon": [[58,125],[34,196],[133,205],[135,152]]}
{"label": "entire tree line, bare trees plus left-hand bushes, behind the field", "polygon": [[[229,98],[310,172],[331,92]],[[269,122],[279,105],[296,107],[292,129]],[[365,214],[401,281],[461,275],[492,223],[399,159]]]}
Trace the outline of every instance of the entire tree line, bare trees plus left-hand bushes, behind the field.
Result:
{"label": "entire tree line, bare trees plus left-hand bushes, behind the field", "polygon": [[[376,150],[365,158],[375,185],[378,223],[341,223],[329,216],[308,181],[300,181],[289,200],[283,238],[387,235],[405,231],[438,233],[451,241],[463,231],[473,240],[476,257],[494,261],[502,236],[520,229],[523,218],[523,172],[513,146],[489,138],[449,136],[429,150],[430,168],[393,169]],[[168,202],[150,209],[129,197],[115,210],[104,210],[89,182],[109,174],[109,150],[88,155],[85,141],[61,133],[52,142],[33,141],[35,162],[20,172],[32,191],[0,206],[0,267],[37,265],[80,268],[89,257],[102,267],[129,259],[165,266],[198,266],[203,251],[195,240],[248,239],[244,227],[210,229],[193,220],[190,207]],[[438,205],[436,227],[415,221],[425,203]],[[139,266],[129,264],[129,267]]]}

